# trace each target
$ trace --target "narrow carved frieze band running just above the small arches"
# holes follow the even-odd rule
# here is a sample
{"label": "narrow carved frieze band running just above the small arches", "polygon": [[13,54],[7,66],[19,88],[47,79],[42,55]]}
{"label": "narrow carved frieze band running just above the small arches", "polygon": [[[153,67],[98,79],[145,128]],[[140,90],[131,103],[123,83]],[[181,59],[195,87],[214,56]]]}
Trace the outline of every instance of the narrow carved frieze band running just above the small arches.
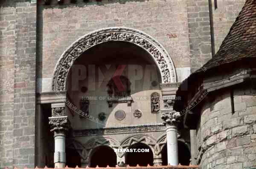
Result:
{"label": "narrow carved frieze band running just above the small arches", "polygon": [[131,127],[112,127],[101,129],[87,129],[73,131],[73,137],[90,136],[90,135],[107,135],[116,133],[134,133],[134,132],[151,132],[151,131],[165,131],[166,127],[163,124],[154,125],[138,125]]}

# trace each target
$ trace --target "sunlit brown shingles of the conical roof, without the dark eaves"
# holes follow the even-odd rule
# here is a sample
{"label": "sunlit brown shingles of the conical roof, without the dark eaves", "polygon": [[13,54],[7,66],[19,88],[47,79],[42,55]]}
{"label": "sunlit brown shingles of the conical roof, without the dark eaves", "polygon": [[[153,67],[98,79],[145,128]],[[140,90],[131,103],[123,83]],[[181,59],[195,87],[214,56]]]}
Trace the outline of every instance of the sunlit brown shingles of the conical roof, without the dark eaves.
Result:
{"label": "sunlit brown shingles of the conical roof, without the dark eaves", "polygon": [[[256,57],[256,0],[246,1],[219,51],[204,68],[210,69],[248,57]],[[196,72],[200,71],[203,70]]]}

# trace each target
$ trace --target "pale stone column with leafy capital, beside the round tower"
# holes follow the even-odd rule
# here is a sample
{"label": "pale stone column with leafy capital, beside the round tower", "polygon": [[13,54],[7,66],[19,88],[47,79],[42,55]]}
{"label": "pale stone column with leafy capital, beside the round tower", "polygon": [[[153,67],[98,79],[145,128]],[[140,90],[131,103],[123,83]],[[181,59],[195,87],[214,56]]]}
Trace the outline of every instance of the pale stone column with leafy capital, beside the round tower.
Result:
{"label": "pale stone column with leafy capital, beside the round tower", "polygon": [[173,112],[173,110],[165,111],[161,115],[166,125],[168,164],[173,166],[178,165],[177,118],[179,116],[180,113]]}

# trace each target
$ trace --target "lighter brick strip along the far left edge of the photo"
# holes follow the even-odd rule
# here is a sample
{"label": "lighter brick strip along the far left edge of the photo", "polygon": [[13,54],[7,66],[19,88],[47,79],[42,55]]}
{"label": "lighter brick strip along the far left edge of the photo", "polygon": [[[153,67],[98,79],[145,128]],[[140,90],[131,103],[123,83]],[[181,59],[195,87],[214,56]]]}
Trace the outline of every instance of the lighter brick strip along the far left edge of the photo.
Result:
{"label": "lighter brick strip along the far left edge of the photo", "polygon": [[13,106],[15,59],[15,8],[0,8],[0,167],[13,158]]}

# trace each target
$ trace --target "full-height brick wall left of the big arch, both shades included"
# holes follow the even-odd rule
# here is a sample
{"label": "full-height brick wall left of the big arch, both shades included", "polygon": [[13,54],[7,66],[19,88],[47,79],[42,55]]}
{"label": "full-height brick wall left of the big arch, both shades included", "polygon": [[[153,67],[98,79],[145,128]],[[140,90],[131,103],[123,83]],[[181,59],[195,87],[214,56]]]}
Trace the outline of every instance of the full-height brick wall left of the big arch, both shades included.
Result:
{"label": "full-height brick wall left of the big arch, both shades included", "polygon": [[0,168],[34,166],[36,4],[0,3]]}

